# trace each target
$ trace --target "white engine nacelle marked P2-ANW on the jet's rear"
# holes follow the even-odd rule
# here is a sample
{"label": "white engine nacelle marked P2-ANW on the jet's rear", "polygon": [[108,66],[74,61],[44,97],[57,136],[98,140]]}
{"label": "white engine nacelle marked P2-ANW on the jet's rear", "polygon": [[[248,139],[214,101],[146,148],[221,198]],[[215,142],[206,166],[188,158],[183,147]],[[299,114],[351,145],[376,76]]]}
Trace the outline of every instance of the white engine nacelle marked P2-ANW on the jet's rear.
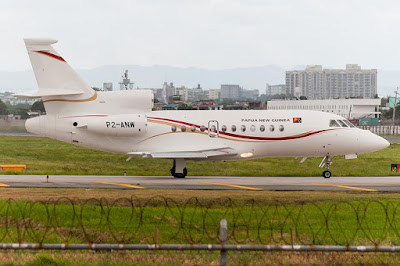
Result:
{"label": "white engine nacelle marked P2-ANW on the jet's rear", "polygon": [[136,114],[92,117],[87,121],[87,129],[102,135],[131,137],[147,132],[147,117]]}

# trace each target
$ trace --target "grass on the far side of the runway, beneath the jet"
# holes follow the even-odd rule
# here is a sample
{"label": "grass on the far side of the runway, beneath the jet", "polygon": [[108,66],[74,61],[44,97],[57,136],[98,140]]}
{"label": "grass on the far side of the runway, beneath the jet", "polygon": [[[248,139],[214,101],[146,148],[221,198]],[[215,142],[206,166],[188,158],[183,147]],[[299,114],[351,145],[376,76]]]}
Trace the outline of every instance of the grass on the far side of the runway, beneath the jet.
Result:
{"label": "grass on the far side of the runway, beneath the jet", "polygon": [[[24,172],[3,174],[37,175],[149,175],[169,176],[172,160],[133,158],[95,151],[40,137],[0,136],[0,164],[26,164]],[[390,171],[398,159],[400,145],[385,150],[361,154],[356,160],[334,158],[331,171],[335,176],[400,175]],[[198,176],[320,176],[322,158],[265,158],[247,161],[188,161],[189,175]]]}

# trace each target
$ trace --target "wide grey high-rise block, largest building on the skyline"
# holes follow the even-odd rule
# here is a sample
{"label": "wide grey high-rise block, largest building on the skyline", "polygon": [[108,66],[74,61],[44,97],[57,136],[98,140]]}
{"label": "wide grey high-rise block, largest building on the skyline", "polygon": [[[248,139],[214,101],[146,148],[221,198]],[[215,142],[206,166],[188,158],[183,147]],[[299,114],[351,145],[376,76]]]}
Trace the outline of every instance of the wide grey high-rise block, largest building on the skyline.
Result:
{"label": "wide grey high-rise block, largest building on the skyline", "polygon": [[286,93],[310,100],[371,99],[377,94],[377,70],[347,64],[346,69],[323,69],[321,65],[312,65],[305,70],[286,71]]}

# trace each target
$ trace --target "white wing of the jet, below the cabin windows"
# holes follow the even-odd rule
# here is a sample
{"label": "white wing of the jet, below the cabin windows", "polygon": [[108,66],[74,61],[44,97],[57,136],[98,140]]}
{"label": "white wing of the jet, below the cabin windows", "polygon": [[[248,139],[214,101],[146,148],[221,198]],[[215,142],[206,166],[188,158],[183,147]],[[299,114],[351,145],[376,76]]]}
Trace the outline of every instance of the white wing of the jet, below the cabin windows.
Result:
{"label": "white wing of the jet, below the cabin windows", "polygon": [[229,147],[198,150],[198,151],[171,151],[171,152],[128,152],[129,158],[140,156],[143,158],[163,158],[163,159],[207,159],[212,157],[234,156],[236,151]]}

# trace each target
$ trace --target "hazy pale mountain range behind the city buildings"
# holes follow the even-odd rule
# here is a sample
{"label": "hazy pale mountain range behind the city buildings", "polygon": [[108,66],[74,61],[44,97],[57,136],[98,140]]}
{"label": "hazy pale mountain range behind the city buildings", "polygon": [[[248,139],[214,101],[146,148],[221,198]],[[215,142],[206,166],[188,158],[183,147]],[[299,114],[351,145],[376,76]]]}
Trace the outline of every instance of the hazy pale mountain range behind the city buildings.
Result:
{"label": "hazy pale mountain range behind the city buildings", "polygon": [[[298,66],[293,69],[304,69]],[[103,82],[112,82],[115,89],[122,80],[125,70],[129,78],[139,88],[161,88],[164,82],[175,86],[197,87],[203,89],[220,88],[221,84],[239,84],[245,89],[259,89],[265,93],[266,84],[284,84],[286,69],[276,65],[243,67],[223,70],[207,70],[195,67],[106,65],[93,69],[78,69],[77,72],[92,87],[103,87]],[[399,70],[378,70],[379,96],[393,95],[400,85]],[[0,71],[0,90],[26,92],[37,88],[32,70],[7,72]]]}

